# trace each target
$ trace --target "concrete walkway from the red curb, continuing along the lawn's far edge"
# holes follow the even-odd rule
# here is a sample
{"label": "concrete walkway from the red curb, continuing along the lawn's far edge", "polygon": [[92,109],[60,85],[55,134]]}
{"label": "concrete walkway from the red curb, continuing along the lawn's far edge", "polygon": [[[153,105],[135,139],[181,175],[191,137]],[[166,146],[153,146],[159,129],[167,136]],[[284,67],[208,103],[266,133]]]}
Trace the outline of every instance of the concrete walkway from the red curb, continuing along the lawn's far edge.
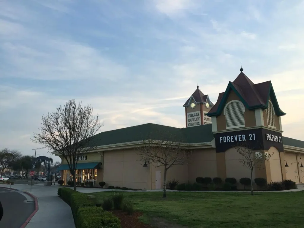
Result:
{"label": "concrete walkway from the red curb, continuing along the lawn's far edge", "polygon": [[[3,187],[9,187],[5,185]],[[299,192],[304,190],[304,185],[297,185],[297,189],[279,191],[279,192]],[[35,184],[32,186],[32,192],[30,192],[30,185],[15,184],[11,186],[14,189],[18,189],[23,192],[29,192],[37,197],[38,211],[29,221],[26,228],[75,228],[74,219],[71,212],[71,208],[62,199],[57,196],[57,190],[60,185],[44,186],[44,184]],[[1,185],[0,185],[1,188]],[[72,187],[70,187],[72,188]],[[96,193],[105,191],[125,191],[125,192],[162,192],[162,189],[156,190],[116,190],[106,188],[77,188],[77,191],[83,193]],[[221,191],[174,191],[167,190],[168,192],[221,192]],[[248,191],[229,191],[229,192],[247,192]],[[263,191],[259,191],[263,192]],[[264,191],[270,192],[270,191]],[[278,191],[277,191],[278,192]]]}

